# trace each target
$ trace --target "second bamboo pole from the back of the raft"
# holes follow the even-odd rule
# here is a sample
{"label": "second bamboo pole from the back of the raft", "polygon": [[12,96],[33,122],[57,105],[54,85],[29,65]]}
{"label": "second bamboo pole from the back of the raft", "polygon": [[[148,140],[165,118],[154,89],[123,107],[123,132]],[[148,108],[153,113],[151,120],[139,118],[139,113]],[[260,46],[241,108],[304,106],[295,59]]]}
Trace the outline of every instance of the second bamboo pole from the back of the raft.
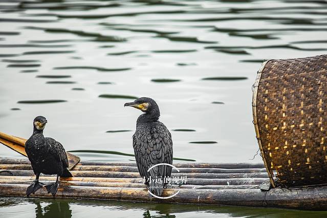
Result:
{"label": "second bamboo pole from the back of the raft", "polygon": [[[0,169],[20,169],[32,170],[31,164],[0,164]],[[77,171],[115,171],[115,172],[138,172],[136,166],[103,166],[103,165],[76,165],[73,170]],[[266,172],[265,168],[248,168],[248,169],[222,169],[222,168],[179,168],[180,173],[250,173]],[[178,172],[172,168],[172,172]]]}

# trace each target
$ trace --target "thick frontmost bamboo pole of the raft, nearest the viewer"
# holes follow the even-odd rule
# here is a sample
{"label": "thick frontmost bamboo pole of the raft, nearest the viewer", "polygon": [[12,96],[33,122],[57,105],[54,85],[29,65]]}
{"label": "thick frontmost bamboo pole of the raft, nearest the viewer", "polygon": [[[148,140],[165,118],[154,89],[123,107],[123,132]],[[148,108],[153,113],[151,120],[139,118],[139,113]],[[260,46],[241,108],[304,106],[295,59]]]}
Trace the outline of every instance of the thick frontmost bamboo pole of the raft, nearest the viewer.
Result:
{"label": "thick frontmost bamboo pole of the raft, nearest the viewer", "polygon": [[[0,184],[0,195],[24,197],[28,185]],[[84,187],[60,186],[56,198],[99,199],[142,202],[190,203],[232,205],[248,207],[276,207],[307,210],[327,210],[327,187],[271,189],[179,189],[179,193],[169,199],[151,197],[146,188],[112,188],[112,187]],[[175,194],[175,189],[165,189],[164,197]],[[36,197],[51,198],[45,189],[38,190]],[[315,198],[312,198],[312,197]]]}

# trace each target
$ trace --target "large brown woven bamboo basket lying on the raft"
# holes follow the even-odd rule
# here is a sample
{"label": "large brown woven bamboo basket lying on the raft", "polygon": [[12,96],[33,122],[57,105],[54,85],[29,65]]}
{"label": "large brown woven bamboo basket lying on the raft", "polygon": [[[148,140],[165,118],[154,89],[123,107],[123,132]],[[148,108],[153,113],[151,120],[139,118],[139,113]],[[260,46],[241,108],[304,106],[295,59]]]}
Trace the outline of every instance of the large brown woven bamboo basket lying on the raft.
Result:
{"label": "large brown woven bamboo basket lying on the raft", "polygon": [[327,55],[265,61],[253,87],[255,132],[272,186],[326,184]]}

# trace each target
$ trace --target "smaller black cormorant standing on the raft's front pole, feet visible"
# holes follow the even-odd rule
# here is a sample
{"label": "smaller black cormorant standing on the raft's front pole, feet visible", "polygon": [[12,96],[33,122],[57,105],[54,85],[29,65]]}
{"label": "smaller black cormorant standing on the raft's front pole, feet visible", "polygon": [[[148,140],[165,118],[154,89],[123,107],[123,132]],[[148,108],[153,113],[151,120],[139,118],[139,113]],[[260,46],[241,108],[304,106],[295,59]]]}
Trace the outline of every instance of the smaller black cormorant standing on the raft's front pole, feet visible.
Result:
{"label": "smaller black cormorant standing on the raft's front pole, feet visible", "polygon": [[62,145],[52,138],[45,138],[43,136],[43,129],[47,122],[45,117],[36,117],[33,121],[33,134],[25,143],[26,154],[36,175],[35,182],[26,190],[27,196],[42,188],[41,183],[38,181],[41,173],[57,175],[57,180],[53,185],[45,186],[48,193],[51,193],[53,196],[58,190],[59,176],[73,177],[67,169],[69,165],[68,158]]}

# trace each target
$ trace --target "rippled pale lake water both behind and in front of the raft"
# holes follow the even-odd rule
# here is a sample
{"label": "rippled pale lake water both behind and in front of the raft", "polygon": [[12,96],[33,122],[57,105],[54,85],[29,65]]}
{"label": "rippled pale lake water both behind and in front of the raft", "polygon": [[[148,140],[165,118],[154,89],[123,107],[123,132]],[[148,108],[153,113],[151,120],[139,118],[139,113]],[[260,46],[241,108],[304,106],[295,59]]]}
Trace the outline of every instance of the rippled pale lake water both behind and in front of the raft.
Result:
{"label": "rippled pale lake water both behind and in front of the raft", "polygon": [[[323,0],[2,0],[0,131],[29,138],[34,117],[42,115],[45,135],[82,160],[134,162],[140,111],[123,105],[147,96],[171,130],[176,161],[261,162],[249,160],[258,149],[251,107],[256,72],[264,59],[327,53],[326,14]],[[5,146],[0,155],[19,157]],[[45,215],[61,204],[73,217],[298,213],[2,198],[0,216]]]}

